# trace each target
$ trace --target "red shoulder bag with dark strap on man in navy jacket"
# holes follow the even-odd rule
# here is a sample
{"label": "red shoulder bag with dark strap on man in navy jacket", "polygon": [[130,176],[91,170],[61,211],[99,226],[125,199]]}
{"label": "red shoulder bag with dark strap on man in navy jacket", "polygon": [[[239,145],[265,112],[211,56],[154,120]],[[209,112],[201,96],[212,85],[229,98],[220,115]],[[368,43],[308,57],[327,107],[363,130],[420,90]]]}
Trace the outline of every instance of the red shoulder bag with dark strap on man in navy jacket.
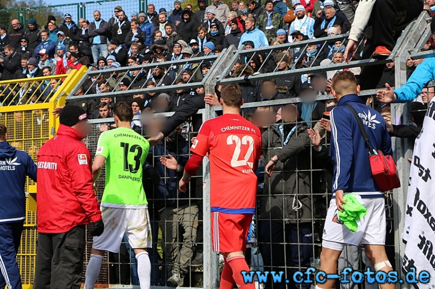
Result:
{"label": "red shoulder bag with dark strap on man in navy jacket", "polygon": [[362,137],[364,138],[365,145],[368,148],[368,160],[370,162],[370,167],[372,169],[373,178],[381,191],[389,191],[394,188],[400,187],[400,179],[397,173],[396,162],[392,156],[385,156],[380,150],[376,150],[370,144],[367,132],[364,129],[364,125],[361,122],[358,113],[355,109],[349,105],[345,104],[354,114],[358,127],[361,131]]}

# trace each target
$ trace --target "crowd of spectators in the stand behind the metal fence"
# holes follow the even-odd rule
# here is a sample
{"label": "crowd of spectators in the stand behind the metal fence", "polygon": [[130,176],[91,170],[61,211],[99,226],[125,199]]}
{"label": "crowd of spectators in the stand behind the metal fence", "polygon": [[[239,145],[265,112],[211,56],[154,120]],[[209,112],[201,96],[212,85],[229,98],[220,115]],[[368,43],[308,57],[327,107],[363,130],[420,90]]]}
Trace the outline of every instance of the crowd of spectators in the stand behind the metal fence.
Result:
{"label": "crowd of spectators in the stand behind the metal fence", "polygon": [[[345,40],[328,41],[328,37],[350,31],[356,7],[356,1],[337,3],[335,0],[287,0],[287,2],[267,0],[264,7],[255,0],[248,0],[246,3],[235,0],[231,7],[219,0],[212,0],[210,6],[207,6],[204,0],[198,0],[199,10],[194,13],[190,5],[183,9],[182,3],[176,1],[171,12],[167,12],[165,8],[157,10],[153,4],[149,4],[146,12],[141,11],[131,15],[126,15],[120,6],[115,7],[114,14],[111,16],[101,15],[96,10],[92,21],[81,18],[78,23],[72,20],[70,14],[65,14],[61,23],[53,16],[49,16],[47,24],[43,27],[39,27],[35,19],[29,19],[27,30],[23,24],[14,19],[13,28],[9,33],[5,27],[0,27],[0,52],[4,55],[0,56],[1,80],[68,74],[82,65],[101,70],[98,77],[86,80],[75,93],[76,95],[101,93],[101,98],[70,103],[83,107],[90,118],[104,119],[112,117],[112,108],[116,101],[126,101],[132,105],[135,115],[143,116],[142,121],[132,122],[133,129],[147,136],[161,133],[165,137],[157,139],[157,146],[155,150],[150,150],[147,160],[151,166],[154,164],[158,175],[165,176],[156,181],[155,188],[150,188],[156,195],[149,200],[157,200],[159,196],[163,196],[161,199],[164,200],[154,203],[155,211],[150,209],[151,221],[172,220],[174,214],[181,214],[181,209],[195,206],[200,211],[199,216],[179,220],[180,224],[176,222],[176,226],[192,228],[197,226],[194,224],[202,218],[200,201],[202,178],[198,176],[197,185],[192,184],[187,195],[181,194],[174,185],[177,183],[175,179],[179,177],[180,172],[182,174],[183,165],[187,161],[185,155],[189,143],[186,137],[174,132],[199,130],[202,119],[194,113],[204,108],[205,104],[219,106],[219,86],[216,87],[216,95],[205,95],[204,87],[180,88],[162,93],[147,92],[145,89],[201,81],[214,63],[205,60],[195,64],[168,65],[149,69],[135,69],[134,66],[219,55],[230,45],[236,47],[243,45],[245,50],[250,50],[322,37],[327,40],[325,45],[309,45],[303,51],[299,48],[291,51],[272,50],[270,55],[254,52],[244,59],[239,59],[228,77],[244,77],[272,71],[343,63]],[[429,8],[428,13],[433,13],[433,10]],[[434,47],[432,43],[435,42],[431,36],[425,49]],[[362,46],[355,55],[355,60],[361,59]],[[408,77],[420,63],[421,61],[409,59]],[[127,72],[111,71],[125,66],[131,68]],[[344,70],[351,70],[355,75],[359,75],[361,71],[359,67]],[[286,152],[287,160],[280,168],[290,172],[287,177],[290,181],[285,186],[281,186],[276,184],[282,181],[282,175],[276,175],[272,179],[266,178],[262,182],[264,195],[263,189],[259,191],[262,205],[258,208],[257,237],[262,243],[259,246],[264,260],[262,264],[269,271],[280,271],[285,264],[289,264],[286,260],[291,260],[295,267],[310,266],[310,258],[313,257],[310,244],[316,243],[318,240],[315,238],[320,234],[313,232],[311,219],[313,216],[316,219],[324,218],[326,202],[324,196],[320,194],[331,191],[328,186],[332,177],[331,165],[324,161],[324,156],[320,153],[321,146],[319,151],[309,147],[310,138],[307,128],[320,130],[323,136],[322,142],[329,142],[329,123],[323,116],[325,112],[331,111],[336,106],[336,102],[316,101],[316,98],[318,95],[331,92],[331,79],[338,71],[341,70],[240,83],[245,103],[294,97],[301,97],[302,100],[298,104],[284,107],[258,107],[244,110],[245,117],[256,124],[264,136],[268,136],[268,140],[264,142],[266,143],[264,150],[268,154],[282,147],[282,135],[290,136],[286,140],[289,143]],[[45,101],[58,89],[60,83],[61,80],[45,83],[42,86],[45,89],[43,97],[29,100],[28,95],[19,95],[19,98],[15,98],[14,104]],[[390,86],[395,84],[394,62],[385,65],[378,87],[384,87],[386,83]],[[114,98],[110,95],[112,91],[140,89],[144,89],[143,92],[135,92],[136,94],[127,94],[123,97]],[[375,106],[384,115],[392,136],[415,138],[422,126],[421,111],[427,109],[429,93],[433,94],[433,88],[422,91],[421,102],[413,104],[413,111],[416,112],[413,113],[412,126],[391,125],[389,106],[376,103],[371,96],[364,97],[364,101],[367,105]],[[0,95],[0,102],[7,102],[4,94]],[[35,95],[31,89],[30,95]],[[146,122],[145,115],[148,113],[169,111],[175,114],[166,122]],[[182,127],[185,122],[189,123],[188,129]],[[298,125],[299,123],[302,125]],[[100,131],[115,128],[111,122],[101,122],[98,127]],[[293,135],[294,130],[297,133]],[[310,159],[312,153],[314,158],[319,160],[316,164]],[[169,161],[166,158],[161,159],[162,156],[167,155],[172,156]],[[266,163],[267,160],[268,158],[263,159]],[[327,173],[312,174],[310,170],[314,168],[325,169]],[[315,177],[321,181],[312,182]],[[260,180],[262,179],[263,176],[260,176]],[[296,188],[297,184],[299,184],[298,188]],[[298,198],[294,196],[296,194]],[[319,194],[319,196],[314,196],[313,199],[312,194]],[[291,197],[284,200],[282,196],[287,195]],[[198,202],[192,204],[188,201],[189,198]],[[272,209],[278,207],[286,209]],[[165,210],[162,213],[163,208]],[[168,208],[171,208],[171,211],[168,211]],[[292,221],[283,226],[284,219]],[[200,228],[194,232],[185,229],[180,241],[178,236],[171,235],[175,230],[170,227],[172,223],[173,221],[168,221],[171,225],[165,223],[162,226],[166,245],[164,248],[166,260],[163,262],[167,264],[168,275],[165,275],[163,281],[161,276],[153,277],[151,284],[154,285],[159,283],[159,279],[160,283],[164,283],[168,277],[170,279],[174,275],[176,277],[172,278],[169,284],[182,285],[183,278],[188,272],[187,266],[202,262],[202,246],[194,245],[202,242]],[[287,239],[284,239],[284,236]],[[272,246],[285,242],[293,244],[290,253],[284,249],[284,245]],[[295,243],[299,244],[294,245]],[[286,256],[285,252],[289,255]],[[252,255],[252,262],[254,259],[259,259],[257,250],[252,250]],[[133,279],[132,282],[135,283]]]}

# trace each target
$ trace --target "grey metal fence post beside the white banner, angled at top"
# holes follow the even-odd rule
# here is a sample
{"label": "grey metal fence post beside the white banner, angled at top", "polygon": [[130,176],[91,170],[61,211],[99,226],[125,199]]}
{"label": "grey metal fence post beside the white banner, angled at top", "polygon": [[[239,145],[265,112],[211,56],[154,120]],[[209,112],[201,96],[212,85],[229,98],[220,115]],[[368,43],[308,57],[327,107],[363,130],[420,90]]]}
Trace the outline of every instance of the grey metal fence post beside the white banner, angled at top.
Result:
{"label": "grey metal fence post beside the white banner, angled at top", "polygon": [[[412,50],[419,41],[421,31],[426,27],[426,15],[421,14],[414,22],[410,33],[405,41],[400,45],[399,51],[396,54],[395,60],[395,87],[406,83],[406,60],[409,56],[409,51]],[[411,122],[410,109],[408,104],[393,104],[392,105],[392,121],[393,124],[409,125]],[[395,238],[395,267],[399,271],[399,278],[404,280],[402,268],[402,260],[405,252],[405,245],[402,241],[403,222],[406,210],[406,196],[408,192],[408,180],[410,164],[407,160],[412,156],[412,146],[414,143],[409,143],[407,139],[396,137],[393,139],[394,156],[397,161],[397,168],[400,174],[402,186],[394,190],[393,194],[393,211],[394,211],[394,238]],[[409,284],[403,282],[401,288],[409,288]]]}

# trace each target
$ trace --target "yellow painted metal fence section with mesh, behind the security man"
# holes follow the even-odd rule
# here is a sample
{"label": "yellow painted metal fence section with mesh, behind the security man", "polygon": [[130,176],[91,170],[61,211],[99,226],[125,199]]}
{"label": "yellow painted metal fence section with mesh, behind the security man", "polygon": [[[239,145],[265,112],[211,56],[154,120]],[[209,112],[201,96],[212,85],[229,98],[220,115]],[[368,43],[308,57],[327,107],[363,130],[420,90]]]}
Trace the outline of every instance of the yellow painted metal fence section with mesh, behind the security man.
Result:
{"label": "yellow painted metal fence section with mesh, behind the security man", "polygon": [[[36,161],[39,148],[54,136],[59,126],[59,119],[51,112],[65,104],[65,98],[86,70],[82,66],[68,75],[0,81],[0,123],[8,128],[8,142]],[[56,84],[49,90],[51,82]],[[44,87],[45,84],[48,86]],[[30,179],[26,193],[25,228],[17,255],[24,289],[32,288],[36,261],[36,185]]]}

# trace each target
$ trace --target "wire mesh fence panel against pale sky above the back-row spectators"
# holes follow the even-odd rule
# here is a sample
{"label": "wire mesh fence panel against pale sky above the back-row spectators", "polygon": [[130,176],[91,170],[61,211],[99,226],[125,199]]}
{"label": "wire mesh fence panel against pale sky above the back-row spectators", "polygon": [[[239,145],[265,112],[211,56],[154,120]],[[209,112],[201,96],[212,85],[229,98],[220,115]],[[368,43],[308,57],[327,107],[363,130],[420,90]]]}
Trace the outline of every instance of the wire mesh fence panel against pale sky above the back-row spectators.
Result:
{"label": "wire mesh fence panel against pale sky above the back-row spectators", "polygon": [[83,17],[90,22],[94,21],[94,11],[101,13],[101,19],[108,21],[114,16],[114,9],[120,6],[129,20],[132,19],[132,13],[139,13],[142,0],[112,0],[112,1],[94,1],[83,3]]}

